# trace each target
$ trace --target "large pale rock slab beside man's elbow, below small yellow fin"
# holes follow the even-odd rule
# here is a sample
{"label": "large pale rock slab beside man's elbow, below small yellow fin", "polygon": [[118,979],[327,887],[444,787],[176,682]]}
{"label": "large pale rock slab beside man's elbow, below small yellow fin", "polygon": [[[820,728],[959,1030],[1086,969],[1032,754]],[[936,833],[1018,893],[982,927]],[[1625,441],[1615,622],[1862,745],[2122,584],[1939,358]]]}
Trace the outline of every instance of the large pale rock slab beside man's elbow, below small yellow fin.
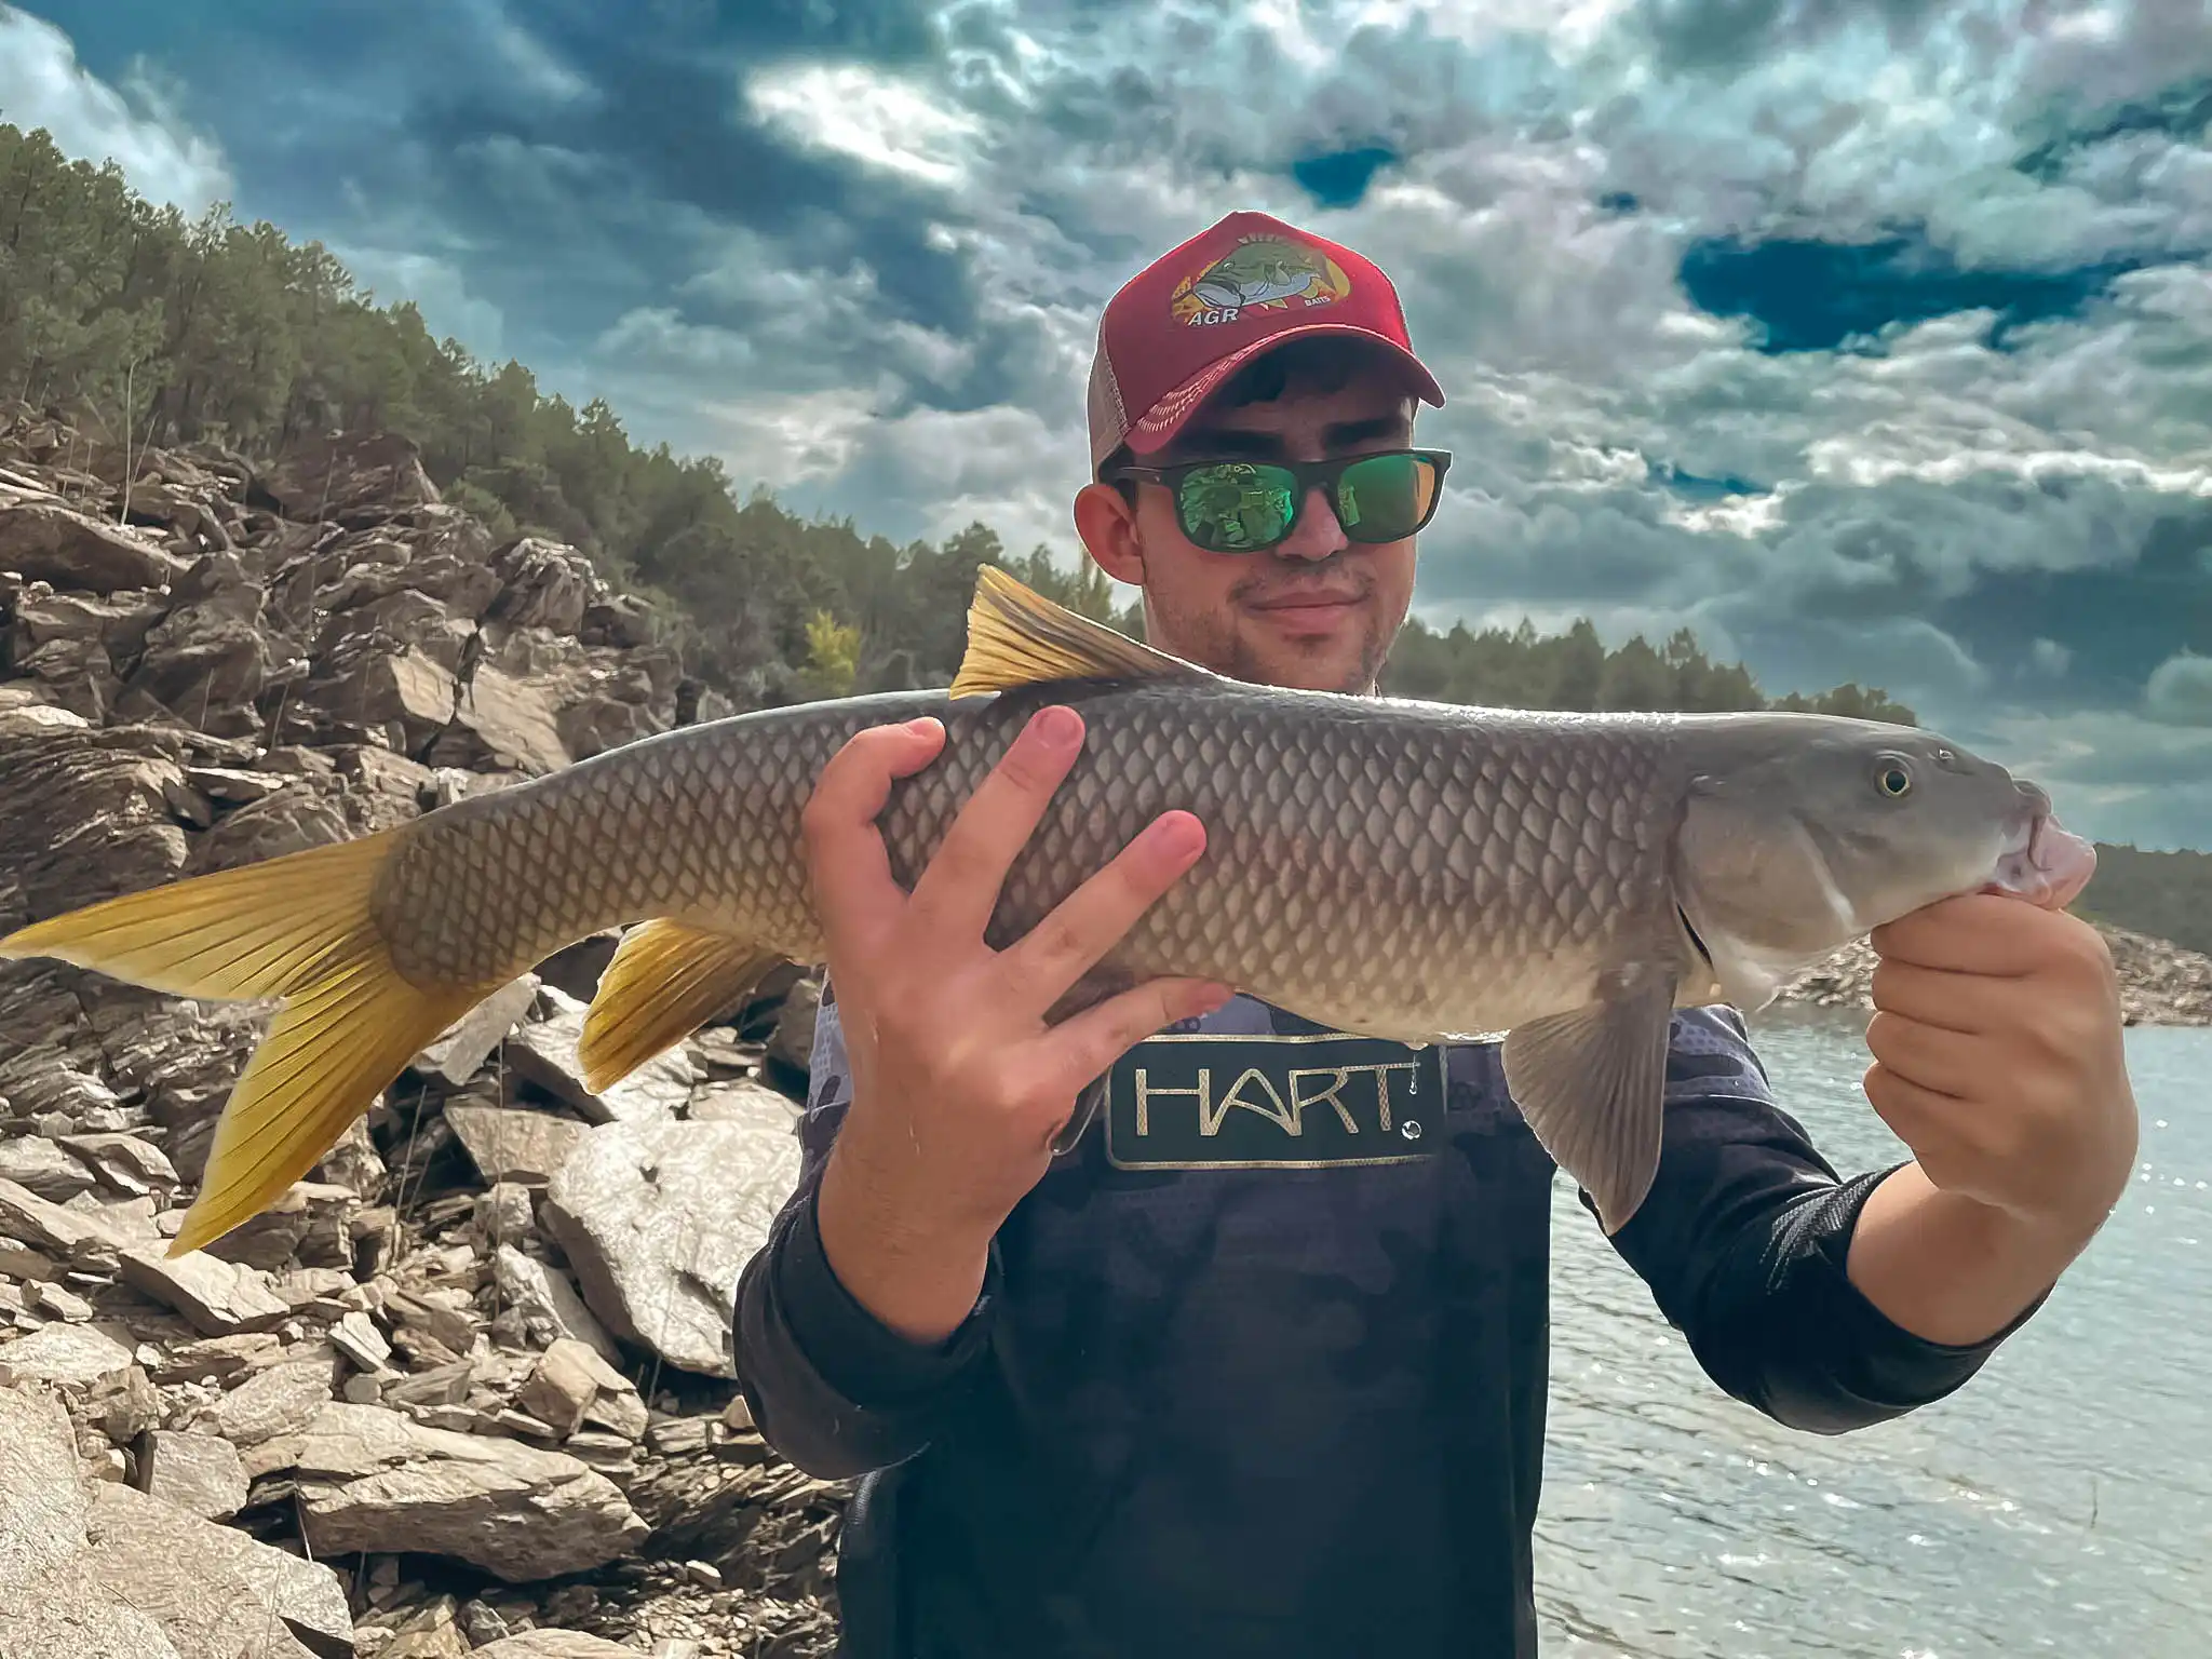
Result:
{"label": "large pale rock slab beside man's elbow, below small yellow fin", "polygon": [[617,1336],[728,1378],[737,1279],[796,1183],[790,1121],[608,1124],[553,1177],[544,1217]]}

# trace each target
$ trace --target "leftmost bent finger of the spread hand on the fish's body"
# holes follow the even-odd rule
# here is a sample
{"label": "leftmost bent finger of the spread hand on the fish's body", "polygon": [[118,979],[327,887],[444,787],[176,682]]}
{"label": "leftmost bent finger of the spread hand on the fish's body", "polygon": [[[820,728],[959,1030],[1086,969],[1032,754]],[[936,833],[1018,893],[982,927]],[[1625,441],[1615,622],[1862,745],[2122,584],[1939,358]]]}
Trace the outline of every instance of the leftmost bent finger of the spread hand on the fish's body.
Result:
{"label": "leftmost bent finger of the spread hand on the fish's body", "polygon": [[891,785],[920,772],[942,748],[945,728],[933,719],[872,726],[849,737],[814,781],[799,834],[832,956],[856,960],[898,918],[905,894],[891,878],[876,814],[891,799]]}

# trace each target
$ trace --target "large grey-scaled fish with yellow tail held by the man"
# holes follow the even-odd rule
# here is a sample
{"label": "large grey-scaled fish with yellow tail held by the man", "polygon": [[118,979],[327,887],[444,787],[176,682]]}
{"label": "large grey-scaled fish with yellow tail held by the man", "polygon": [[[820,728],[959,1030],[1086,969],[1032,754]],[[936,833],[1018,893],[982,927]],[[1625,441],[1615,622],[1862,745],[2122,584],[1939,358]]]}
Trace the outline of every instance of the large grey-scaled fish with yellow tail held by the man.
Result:
{"label": "large grey-scaled fish with yellow tail held by the man", "polygon": [[[987,568],[945,692],[690,726],[380,834],[24,927],[195,998],[281,998],[173,1252],[303,1177],[425,1044],[577,938],[633,927],[591,1004],[606,1088],[779,962],[823,960],[801,807],[854,732],[936,714],[880,816],[920,872],[1044,701],[1088,737],[989,938],[1029,931],[1170,807],[1203,858],[1057,1013],[1206,975],[1343,1031],[1498,1037],[1513,1099],[1617,1230],[1659,1161],[1668,1013],[1975,889],[2064,905],[2095,865],[2048,796],[1942,737],[1814,714],[1551,714],[1223,679]],[[1071,1119],[1079,1130],[1095,1104]],[[1064,1130],[1066,1135],[1066,1130]]]}

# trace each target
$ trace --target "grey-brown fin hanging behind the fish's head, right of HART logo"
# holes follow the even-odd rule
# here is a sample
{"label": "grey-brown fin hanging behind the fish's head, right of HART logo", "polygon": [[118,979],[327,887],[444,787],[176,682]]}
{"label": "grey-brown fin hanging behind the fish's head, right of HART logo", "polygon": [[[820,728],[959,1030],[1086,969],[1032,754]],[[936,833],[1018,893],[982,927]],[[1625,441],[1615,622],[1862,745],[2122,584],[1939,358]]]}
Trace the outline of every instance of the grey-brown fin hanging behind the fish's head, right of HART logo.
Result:
{"label": "grey-brown fin hanging behind the fish's head, right of HART logo", "polygon": [[1615,1234],[1659,1170],[1674,978],[1630,975],[1597,1002],[1513,1026],[1506,1091],[1537,1141]]}

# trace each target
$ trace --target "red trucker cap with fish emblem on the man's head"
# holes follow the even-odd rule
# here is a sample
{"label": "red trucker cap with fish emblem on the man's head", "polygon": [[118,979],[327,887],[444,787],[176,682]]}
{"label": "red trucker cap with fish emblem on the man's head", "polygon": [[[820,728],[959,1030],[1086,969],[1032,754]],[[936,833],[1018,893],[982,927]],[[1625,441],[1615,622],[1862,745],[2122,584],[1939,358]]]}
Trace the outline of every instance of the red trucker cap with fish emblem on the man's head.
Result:
{"label": "red trucker cap with fish emblem on the man's head", "polygon": [[1159,451],[1237,369],[1307,334],[1376,341],[1413,394],[1444,405],[1374,261],[1272,215],[1232,212],[1106,301],[1091,358],[1091,471],[1124,442]]}

